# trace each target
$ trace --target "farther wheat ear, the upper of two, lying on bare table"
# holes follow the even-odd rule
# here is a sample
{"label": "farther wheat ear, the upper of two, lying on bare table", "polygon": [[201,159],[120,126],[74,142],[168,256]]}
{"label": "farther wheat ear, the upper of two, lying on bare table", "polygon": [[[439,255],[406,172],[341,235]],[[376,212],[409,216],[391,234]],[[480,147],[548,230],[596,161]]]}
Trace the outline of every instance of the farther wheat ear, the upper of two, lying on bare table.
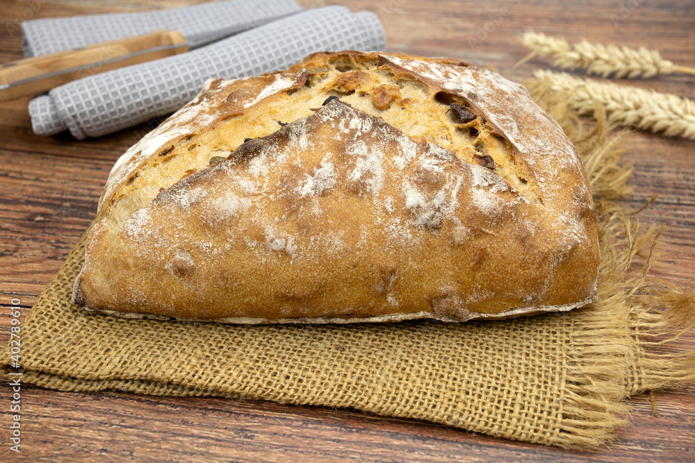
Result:
{"label": "farther wheat ear, the upper of two, lying on bare table", "polygon": [[[521,37],[524,47],[532,50],[531,56],[553,56],[553,65],[562,69],[587,69],[587,74],[599,74],[607,77],[615,74],[618,78],[649,78],[656,74],[685,72],[695,74],[695,69],[676,66],[664,60],[656,50],[639,47],[617,47],[582,40],[578,44],[569,44],[562,37],[548,37],[543,33],[527,31]],[[523,61],[525,61],[523,60]]]}

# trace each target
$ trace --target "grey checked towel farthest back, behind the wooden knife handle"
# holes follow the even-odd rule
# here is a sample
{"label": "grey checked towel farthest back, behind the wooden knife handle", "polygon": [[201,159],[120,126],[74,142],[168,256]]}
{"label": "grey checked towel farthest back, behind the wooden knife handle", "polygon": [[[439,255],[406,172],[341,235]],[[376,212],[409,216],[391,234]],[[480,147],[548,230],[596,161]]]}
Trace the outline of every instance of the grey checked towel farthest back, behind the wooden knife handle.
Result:
{"label": "grey checked towel farthest back, behind the wooden knife handle", "polygon": [[184,37],[222,30],[231,35],[301,10],[295,0],[227,0],[172,10],[33,19],[21,25],[22,42],[29,57],[161,29]]}

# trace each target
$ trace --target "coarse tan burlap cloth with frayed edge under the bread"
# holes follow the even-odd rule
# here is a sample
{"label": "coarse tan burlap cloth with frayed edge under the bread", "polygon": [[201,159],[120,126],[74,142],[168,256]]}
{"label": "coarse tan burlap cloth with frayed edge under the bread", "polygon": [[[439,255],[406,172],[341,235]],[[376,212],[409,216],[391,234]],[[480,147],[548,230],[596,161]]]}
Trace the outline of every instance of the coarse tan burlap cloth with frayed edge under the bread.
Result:
{"label": "coarse tan burlap cloth with frayed edge under the bread", "polygon": [[[695,379],[692,352],[650,352],[664,334],[692,327],[695,297],[645,278],[649,259],[639,253],[649,253],[656,233],[639,231],[619,204],[630,171],[620,167],[610,128],[599,121],[582,131],[562,97],[527,85],[578,146],[591,178],[603,256],[598,302],[462,324],[119,319],[70,303],[85,232],[22,323],[22,380],[63,391],[350,407],[567,448],[614,439],[627,424],[628,396]],[[644,272],[634,271],[635,257]],[[13,371],[8,346],[0,355],[4,371]]]}

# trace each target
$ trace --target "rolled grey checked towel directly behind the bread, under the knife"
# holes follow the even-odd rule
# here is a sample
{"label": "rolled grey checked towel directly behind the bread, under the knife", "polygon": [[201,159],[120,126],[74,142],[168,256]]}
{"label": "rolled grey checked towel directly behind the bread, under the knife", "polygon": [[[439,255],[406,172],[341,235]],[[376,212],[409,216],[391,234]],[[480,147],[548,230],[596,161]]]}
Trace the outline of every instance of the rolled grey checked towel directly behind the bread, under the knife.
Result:
{"label": "rolled grey checked towel directly behind the bread, under the knife", "polygon": [[306,10],[183,53],[96,74],[56,87],[29,103],[35,133],[69,129],[99,137],[181,108],[210,77],[239,78],[283,69],[315,51],[384,50],[370,12],[342,6]]}

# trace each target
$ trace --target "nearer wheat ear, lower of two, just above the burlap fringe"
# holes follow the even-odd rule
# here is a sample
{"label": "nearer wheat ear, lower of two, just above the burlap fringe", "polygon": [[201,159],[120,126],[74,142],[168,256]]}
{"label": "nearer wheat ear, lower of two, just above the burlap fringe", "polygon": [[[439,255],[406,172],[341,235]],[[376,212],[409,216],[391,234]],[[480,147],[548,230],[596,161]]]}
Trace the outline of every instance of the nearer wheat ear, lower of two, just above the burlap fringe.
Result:
{"label": "nearer wheat ear, lower of two, just above the burlap fringe", "polygon": [[542,85],[566,93],[569,106],[580,115],[594,115],[596,105],[605,110],[610,124],[636,127],[695,140],[695,102],[673,94],[643,90],[570,76],[564,72],[534,72]]}

